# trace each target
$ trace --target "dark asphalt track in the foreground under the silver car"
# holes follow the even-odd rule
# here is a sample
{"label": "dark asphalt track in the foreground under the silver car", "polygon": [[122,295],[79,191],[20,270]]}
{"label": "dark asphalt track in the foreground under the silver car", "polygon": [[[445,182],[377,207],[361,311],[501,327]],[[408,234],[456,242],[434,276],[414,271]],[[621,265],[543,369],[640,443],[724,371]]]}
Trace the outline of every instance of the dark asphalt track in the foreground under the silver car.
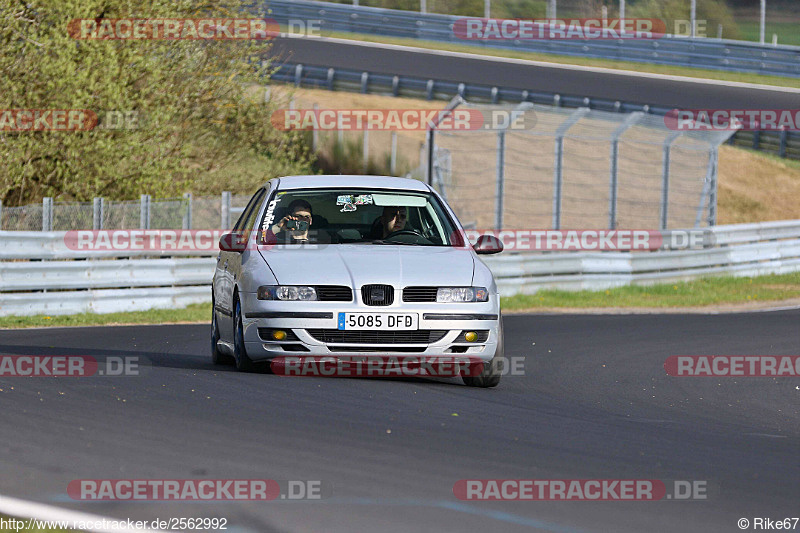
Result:
{"label": "dark asphalt track in the foreground under the silver car", "polygon": [[[797,516],[800,380],[674,378],[676,354],[798,353],[800,312],[506,317],[524,376],[287,378],[209,362],[208,327],[0,332],[3,354],[136,355],[126,378],[0,378],[0,494],[232,531],[731,532]],[[458,416],[454,416],[457,413]],[[389,433],[391,430],[391,433]],[[322,480],[309,502],[74,502],[73,479]],[[459,479],[707,480],[706,501],[462,502]]]}

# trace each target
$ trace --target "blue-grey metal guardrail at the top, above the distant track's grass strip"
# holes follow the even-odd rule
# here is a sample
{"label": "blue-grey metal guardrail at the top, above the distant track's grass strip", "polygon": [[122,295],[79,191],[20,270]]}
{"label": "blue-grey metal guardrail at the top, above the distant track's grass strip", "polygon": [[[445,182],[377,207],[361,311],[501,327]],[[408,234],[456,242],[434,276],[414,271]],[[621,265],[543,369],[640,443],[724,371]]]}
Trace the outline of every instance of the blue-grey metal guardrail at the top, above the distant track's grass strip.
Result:
{"label": "blue-grey metal guardrail at the top, above the distant track's grass strip", "polygon": [[800,47],[711,38],[665,36],[656,40],[486,40],[465,41],[453,32],[463,17],[421,14],[305,0],[270,0],[251,9],[277,22],[319,21],[323,31],[365,33],[429,41],[477,44],[528,52],[656,63],[681,67],[800,77]]}

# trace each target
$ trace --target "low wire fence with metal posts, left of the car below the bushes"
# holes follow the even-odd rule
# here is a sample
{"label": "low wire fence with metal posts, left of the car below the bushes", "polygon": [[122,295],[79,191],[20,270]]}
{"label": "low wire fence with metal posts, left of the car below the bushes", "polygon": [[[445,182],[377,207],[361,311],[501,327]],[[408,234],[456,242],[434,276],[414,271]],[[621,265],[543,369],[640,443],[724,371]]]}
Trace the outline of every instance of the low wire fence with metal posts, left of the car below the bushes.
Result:
{"label": "low wire fence with metal posts, left of the car below the bushes", "polygon": [[91,202],[54,202],[4,207],[0,203],[0,230],[67,231],[78,229],[229,229],[241,214],[249,195],[139,200],[94,198]]}

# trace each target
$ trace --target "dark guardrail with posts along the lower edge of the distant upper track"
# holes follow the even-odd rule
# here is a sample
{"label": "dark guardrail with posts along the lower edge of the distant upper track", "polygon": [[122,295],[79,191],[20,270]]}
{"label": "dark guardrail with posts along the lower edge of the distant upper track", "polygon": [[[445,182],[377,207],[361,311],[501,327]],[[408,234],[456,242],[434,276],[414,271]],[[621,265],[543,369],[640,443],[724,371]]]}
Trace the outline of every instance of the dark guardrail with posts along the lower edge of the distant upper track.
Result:
{"label": "dark guardrail with posts along the lower edge of the distant upper track", "polygon": [[[648,105],[620,100],[606,100],[576,95],[544,93],[499,87],[434,80],[414,76],[378,74],[368,71],[334,69],[300,63],[283,63],[275,67],[271,79],[298,87],[349,91],[386,96],[405,96],[426,100],[451,100],[454,96],[476,103],[532,102],[556,107],[588,107],[599,111],[629,113],[642,111],[665,115],[671,107]],[[752,148],[790,159],[800,159],[800,132],[796,131],[737,131],[728,144]]]}

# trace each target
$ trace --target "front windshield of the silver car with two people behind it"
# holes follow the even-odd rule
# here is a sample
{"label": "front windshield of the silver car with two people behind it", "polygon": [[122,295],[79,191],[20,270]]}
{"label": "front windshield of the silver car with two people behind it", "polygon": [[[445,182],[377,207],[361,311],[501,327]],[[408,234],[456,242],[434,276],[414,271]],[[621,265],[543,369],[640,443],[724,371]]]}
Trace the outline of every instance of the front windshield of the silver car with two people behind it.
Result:
{"label": "front windshield of the silver car with two people behind it", "polygon": [[434,195],[385,189],[279,190],[259,225],[262,244],[453,246],[460,241]]}

